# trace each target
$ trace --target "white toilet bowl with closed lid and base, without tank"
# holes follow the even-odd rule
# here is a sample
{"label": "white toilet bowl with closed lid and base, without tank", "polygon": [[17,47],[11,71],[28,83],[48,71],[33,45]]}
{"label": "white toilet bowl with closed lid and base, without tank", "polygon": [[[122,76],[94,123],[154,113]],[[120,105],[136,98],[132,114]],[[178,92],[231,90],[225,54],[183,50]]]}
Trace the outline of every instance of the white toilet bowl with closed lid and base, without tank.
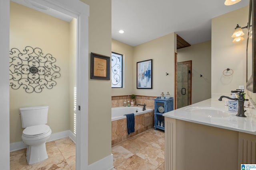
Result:
{"label": "white toilet bowl with closed lid and base, without tank", "polygon": [[51,133],[50,127],[45,124],[24,129],[22,140],[28,145],[26,154],[28,164],[41,162],[48,158],[45,143],[50,138]]}

